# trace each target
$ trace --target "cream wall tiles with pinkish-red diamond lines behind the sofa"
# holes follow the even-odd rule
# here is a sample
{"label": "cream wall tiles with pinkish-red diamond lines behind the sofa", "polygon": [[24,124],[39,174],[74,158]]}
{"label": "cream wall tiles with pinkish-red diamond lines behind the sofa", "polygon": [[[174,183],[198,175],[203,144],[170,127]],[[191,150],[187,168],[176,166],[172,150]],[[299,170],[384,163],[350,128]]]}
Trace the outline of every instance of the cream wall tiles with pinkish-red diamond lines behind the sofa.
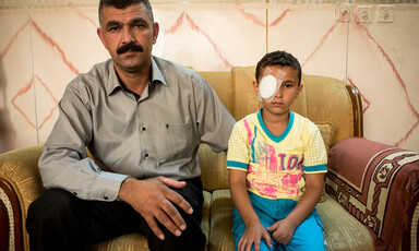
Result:
{"label": "cream wall tiles with pinkish-red diamond lines behind the sofa", "polygon": [[[362,94],[364,136],[419,151],[419,3],[152,1],[160,34],[154,55],[195,70],[253,65],[276,49],[308,74]],[[336,7],[338,5],[338,7]],[[370,11],[368,22],[359,7]],[[96,35],[97,1],[0,3],[0,153],[44,142],[65,85],[109,56]]]}

